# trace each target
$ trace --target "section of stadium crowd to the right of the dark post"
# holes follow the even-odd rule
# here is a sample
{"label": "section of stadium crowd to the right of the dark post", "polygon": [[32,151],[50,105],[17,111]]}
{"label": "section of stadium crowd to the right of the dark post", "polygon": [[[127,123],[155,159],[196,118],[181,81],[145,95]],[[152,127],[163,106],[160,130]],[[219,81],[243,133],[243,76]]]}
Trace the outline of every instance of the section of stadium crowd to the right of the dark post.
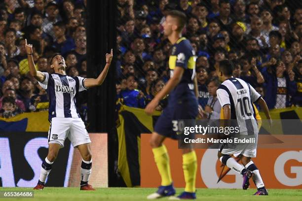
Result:
{"label": "section of stadium crowd to the right of the dark post", "polygon": [[171,44],[161,25],[172,9],[187,15],[183,36],[197,56],[198,99],[207,114],[219,107],[216,68],[225,59],[269,109],[302,106],[302,2],[296,0],[118,0],[119,102],[144,108],[169,79]]}

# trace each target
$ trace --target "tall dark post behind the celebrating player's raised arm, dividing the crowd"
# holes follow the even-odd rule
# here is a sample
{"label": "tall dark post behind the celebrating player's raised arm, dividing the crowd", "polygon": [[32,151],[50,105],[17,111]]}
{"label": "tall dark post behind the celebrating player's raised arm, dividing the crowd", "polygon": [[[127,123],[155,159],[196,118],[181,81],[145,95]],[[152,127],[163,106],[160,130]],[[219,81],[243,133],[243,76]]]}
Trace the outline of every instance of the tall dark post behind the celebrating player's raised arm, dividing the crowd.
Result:
{"label": "tall dark post behind the celebrating player's raised arm, dividing the crowd", "polygon": [[116,2],[87,1],[87,77],[97,77],[106,64],[105,54],[113,48],[113,62],[104,83],[88,90],[89,132],[108,133],[114,126]]}

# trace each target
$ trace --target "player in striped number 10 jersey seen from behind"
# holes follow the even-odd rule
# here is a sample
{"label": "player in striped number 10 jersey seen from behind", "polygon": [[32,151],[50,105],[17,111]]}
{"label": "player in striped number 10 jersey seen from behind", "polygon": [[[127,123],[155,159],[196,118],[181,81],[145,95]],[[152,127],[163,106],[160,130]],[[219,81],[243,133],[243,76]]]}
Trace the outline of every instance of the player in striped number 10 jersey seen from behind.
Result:
{"label": "player in striped number 10 jersey seen from behind", "polygon": [[[260,172],[251,160],[256,157],[259,131],[252,103],[257,102],[261,106],[270,126],[272,120],[261,95],[250,84],[242,79],[234,78],[232,71],[232,64],[228,60],[219,62],[217,74],[223,83],[217,90],[217,97],[223,107],[225,119],[235,120],[235,124],[239,126],[240,135],[255,138],[255,143],[237,144],[233,147],[223,144],[218,152],[218,158],[224,165],[243,175],[242,188],[244,190],[248,189],[249,179],[252,177],[258,189],[254,195],[268,195]],[[230,155],[240,156],[243,166]]]}

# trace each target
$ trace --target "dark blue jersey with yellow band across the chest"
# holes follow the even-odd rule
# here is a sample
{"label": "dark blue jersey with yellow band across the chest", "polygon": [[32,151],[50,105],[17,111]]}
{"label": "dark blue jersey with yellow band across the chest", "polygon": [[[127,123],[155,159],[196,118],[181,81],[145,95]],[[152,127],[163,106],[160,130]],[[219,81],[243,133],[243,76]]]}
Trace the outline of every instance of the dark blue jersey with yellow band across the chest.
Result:
{"label": "dark blue jersey with yellow band across the chest", "polygon": [[170,77],[173,77],[175,67],[183,67],[185,71],[180,83],[171,92],[170,101],[186,98],[188,95],[194,96],[195,63],[195,52],[189,40],[185,37],[180,38],[172,46],[169,58]]}

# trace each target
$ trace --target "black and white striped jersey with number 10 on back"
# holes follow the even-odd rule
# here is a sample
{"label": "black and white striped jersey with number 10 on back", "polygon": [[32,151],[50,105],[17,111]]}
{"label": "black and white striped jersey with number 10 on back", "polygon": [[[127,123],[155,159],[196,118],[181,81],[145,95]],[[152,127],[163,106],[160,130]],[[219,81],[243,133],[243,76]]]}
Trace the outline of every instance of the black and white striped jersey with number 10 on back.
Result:
{"label": "black and white striped jersey with number 10 on back", "polygon": [[261,95],[250,84],[239,78],[229,78],[218,88],[217,97],[222,107],[230,105],[231,119],[237,120],[240,134],[258,134],[252,103],[259,100]]}

